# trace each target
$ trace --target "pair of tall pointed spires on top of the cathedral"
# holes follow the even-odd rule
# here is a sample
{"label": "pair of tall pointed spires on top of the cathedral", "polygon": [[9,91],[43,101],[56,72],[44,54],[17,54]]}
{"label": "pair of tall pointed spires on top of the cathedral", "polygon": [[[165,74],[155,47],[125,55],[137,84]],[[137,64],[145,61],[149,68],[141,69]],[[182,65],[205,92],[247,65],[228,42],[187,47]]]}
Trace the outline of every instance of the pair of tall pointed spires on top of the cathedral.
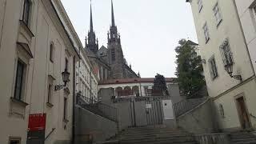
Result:
{"label": "pair of tall pointed spires on top of the cathedral", "polygon": [[[120,44],[120,34],[118,34],[118,28],[114,23],[114,6],[113,1],[111,0],[111,26],[110,31],[108,32],[108,43],[118,42]],[[98,38],[94,32],[94,23],[93,23],[93,14],[90,2],[90,31],[88,32],[88,38],[86,37],[86,47],[97,53],[98,51]]]}

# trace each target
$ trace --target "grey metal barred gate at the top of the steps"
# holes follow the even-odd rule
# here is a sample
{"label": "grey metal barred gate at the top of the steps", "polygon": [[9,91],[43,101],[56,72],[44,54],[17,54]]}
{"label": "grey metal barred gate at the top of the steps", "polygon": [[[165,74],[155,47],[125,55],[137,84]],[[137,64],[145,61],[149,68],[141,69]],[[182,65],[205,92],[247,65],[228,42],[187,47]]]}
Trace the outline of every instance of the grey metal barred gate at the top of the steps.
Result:
{"label": "grey metal barred gate at the top of the steps", "polygon": [[163,121],[162,101],[159,99],[138,99],[130,101],[132,126],[161,125]]}

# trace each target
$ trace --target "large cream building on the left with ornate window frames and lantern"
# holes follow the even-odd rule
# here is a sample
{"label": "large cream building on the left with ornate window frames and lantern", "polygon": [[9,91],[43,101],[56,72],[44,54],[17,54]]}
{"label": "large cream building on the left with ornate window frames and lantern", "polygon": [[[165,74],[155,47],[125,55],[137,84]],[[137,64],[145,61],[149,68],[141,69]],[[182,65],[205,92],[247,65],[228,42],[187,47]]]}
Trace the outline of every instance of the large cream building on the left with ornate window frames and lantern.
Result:
{"label": "large cream building on the left with ornate window frames and lantern", "polygon": [[[26,144],[30,114],[46,114],[45,135],[34,143],[71,141],[79,48],[60,1],[0,0],[0,143]],[[65,70],[70,81],[55,90]],[[97,97],[97,78],[91,79]]]}

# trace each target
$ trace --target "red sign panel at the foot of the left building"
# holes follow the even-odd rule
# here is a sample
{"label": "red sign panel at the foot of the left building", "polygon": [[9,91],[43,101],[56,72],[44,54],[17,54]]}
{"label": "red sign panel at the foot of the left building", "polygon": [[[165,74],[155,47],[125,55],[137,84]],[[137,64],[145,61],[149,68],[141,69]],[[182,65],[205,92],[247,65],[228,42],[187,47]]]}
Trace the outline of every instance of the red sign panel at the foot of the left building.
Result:
{"label": "red sign panel at the foot of the left building", "polygon": [[29,131],[38,131],[46,129],[46,114],[30,114]]}

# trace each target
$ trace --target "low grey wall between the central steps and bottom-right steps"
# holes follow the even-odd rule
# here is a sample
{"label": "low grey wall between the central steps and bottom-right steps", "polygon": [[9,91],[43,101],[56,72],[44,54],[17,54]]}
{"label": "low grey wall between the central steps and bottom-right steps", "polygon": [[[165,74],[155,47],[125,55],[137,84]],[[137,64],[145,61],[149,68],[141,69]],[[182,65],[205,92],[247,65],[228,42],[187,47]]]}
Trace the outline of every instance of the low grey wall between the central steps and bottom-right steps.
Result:
{"label": "low grey wall between the central steps and bottom-right steps", "polygon": [[230,136],[225,133],[195,135],[200,144],[231,144]]}

